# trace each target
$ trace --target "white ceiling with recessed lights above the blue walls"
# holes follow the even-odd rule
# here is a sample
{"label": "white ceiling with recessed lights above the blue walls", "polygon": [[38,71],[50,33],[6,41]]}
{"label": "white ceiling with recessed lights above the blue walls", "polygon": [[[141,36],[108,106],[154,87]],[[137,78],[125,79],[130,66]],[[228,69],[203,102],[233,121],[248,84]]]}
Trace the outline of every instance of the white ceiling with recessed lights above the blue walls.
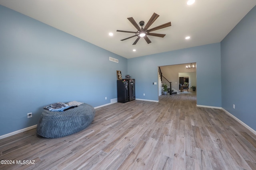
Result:
{"label": "white ceiling with recessed lights above the blue walls", "polygon": [[[218,43],[256,5],[256,0],[196,0],[191,6],[186,1],[0,0],[0,4],[126,58]],[[137,31],[127,18],[146,25],[154,12],[160,16],[149,29],[172,23],[152,31],[166,34],[164,38],[148,36],[152,43],[141,38],[136,45],[132,45],[136,37],[120,41],[134,33],[117,29]]]}

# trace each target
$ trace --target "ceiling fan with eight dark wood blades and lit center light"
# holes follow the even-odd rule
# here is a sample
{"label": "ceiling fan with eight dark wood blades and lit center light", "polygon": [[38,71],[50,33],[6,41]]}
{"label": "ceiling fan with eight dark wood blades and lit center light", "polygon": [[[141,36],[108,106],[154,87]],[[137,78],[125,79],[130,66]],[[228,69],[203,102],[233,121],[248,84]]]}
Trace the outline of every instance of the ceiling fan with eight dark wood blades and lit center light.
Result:
{"label": "ceiling fan with eight dark wood blades and lit center light", "polygon": [[154,13],[151,18],[149,19],[148,23],[146,24],[146,26],[143,28],[142,26],[144,25],[144,21],[140,21],[140,26],[141,28],[139,27],[139,25],[136,23],[136,21],[130,17],[130,18],[127,18],[131,23],[132,25],[134,25],[134,27],[136,27],[136,29],[138,29],[138,31],[122,31],[122,30],[116,30],[118,32],[125,32],[125,33],[135,33],[135,35],[131,36],[131,37],[128,37],[128,38],[125,38],[125,39],[121,39],[121,41],[124,41],[126,39],[129,39],[129,38],[132,38],[132,37],[138,37],[134,43],[132,45],[135,45],[140,37],[144,37],[144,39],[146,40],[146,42],[149,44],[151,43],[150,39],[147,37],[147,35],[151,35],[151,36],[155,36],[155,37],[164,37],[165,34],[158,34],[158,33],[151,33],[151,31],[156,31],[158,29],[162,29],[162,28],[165,28],[165,27],[170,27],[171,26],[171,22],[168,22],[168,23],[165,23],[163,25],[159,25],[157,27],[154,27],[154,28],[151,28],[151,29],[148,29],[152,23],[159,17],[158,14]]}

